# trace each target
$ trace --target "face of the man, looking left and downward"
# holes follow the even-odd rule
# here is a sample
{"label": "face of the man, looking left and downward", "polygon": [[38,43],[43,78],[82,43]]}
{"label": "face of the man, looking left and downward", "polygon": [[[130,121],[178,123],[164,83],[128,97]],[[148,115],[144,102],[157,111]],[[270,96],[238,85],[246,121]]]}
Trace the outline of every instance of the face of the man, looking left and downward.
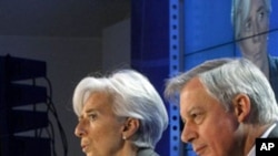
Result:
{"label": "face of the man, looking left and downward", "polygon": [[192,79],[181,90],[180,115],[185,123],[183,143],[191,143],[199,156],[239,156],[241,133],[234,112],[212,97],[199,79]]}

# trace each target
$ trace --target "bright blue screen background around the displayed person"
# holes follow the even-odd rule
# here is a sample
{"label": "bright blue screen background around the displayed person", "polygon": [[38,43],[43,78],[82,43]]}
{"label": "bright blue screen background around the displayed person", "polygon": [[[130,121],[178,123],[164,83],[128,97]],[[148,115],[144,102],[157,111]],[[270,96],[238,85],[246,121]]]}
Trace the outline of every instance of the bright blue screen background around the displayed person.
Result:
{"label": "bright blue screen background around the displayed person", "polygon": [[[262,0],[264,1],[264,0]],[[268,52],[278,55],[278,1],[271,2],[269,12]],[[232,0],[185,0],[181,9],[181,49],[185,70],[205,60],[240,56],[231,18]]]}

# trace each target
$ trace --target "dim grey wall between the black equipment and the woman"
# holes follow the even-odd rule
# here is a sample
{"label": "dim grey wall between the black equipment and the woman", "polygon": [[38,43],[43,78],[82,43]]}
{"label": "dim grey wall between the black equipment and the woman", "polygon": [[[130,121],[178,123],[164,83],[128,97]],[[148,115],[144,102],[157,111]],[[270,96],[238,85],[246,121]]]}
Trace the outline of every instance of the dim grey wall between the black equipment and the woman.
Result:
{"label": "dim grey wall between the black equipment and the woman", "polygon": [[[71,106],[73,89],[89,73],[129,66],[130,20],[105,29],[102,39],[0,35],[0,55],[6,54],[47,62],[52,101],[67,135],[68,156],[81,156],[80,141],[73,135],[77,124]],[[53,116],[49,118],[57,126]],[[58,156],[63,156],[57,128],[56,149]]]}

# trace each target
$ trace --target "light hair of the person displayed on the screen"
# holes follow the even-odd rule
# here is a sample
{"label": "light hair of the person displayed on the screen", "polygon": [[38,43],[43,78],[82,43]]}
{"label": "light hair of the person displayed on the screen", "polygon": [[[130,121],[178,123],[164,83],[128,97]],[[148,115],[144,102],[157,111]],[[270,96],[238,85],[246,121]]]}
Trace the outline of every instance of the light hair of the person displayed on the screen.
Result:
{"label": "light hair of the person displayed on the screen", "polygon": [[[271,12],[271,0],[262,0],[268,13]],[[232,0],[231,3],[231,23],[234,25],[235,39],[240,39],[241,22],[247,19],[250,11],[251,0]]]}

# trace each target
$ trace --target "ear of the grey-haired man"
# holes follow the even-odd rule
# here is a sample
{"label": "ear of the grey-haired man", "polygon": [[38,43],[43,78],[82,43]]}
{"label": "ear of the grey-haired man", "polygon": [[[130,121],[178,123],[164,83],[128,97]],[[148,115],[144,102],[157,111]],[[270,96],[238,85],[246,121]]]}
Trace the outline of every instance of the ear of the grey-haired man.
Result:
{"label": "ear of the grey-haired man", "polygon": [[249,96],[246,94],[238,94],[236,97],[234,97],[232,104],[238,122],[245,122],[248,118],[251,110]]}

